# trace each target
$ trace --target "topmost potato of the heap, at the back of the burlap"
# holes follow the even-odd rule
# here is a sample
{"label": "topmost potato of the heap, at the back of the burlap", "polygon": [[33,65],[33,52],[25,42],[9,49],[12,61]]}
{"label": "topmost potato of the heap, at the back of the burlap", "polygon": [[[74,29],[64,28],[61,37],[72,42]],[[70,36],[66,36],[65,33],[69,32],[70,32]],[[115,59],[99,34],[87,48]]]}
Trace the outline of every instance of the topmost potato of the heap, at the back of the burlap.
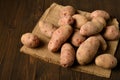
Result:
{"label": "topmost potato of the heap, at the back of the burlap", "polygon": [[60,11],[60,17],[72,16],[75,12],[76,11],[72,6],[64,6]]}

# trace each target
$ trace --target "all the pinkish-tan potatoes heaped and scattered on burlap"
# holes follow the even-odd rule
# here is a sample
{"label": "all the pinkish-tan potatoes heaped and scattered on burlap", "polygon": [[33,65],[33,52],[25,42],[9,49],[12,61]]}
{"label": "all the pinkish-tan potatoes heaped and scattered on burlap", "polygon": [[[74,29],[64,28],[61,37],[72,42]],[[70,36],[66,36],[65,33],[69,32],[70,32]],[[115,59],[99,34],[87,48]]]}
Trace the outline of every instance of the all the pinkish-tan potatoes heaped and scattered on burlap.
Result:
{"label": "all the pinkish-tan potatoes heaped and scattered on burlap", "polygon": [[[117,65],[117,59],[105,51],[109,47],[106,41],[119,39],[120,32],[116,25],[108,24],[111,19],[106,11],[95,10],[84,16],[72,6],[64,6],[59,15],[59,26],[40,21],[39,28],[42,34],[50,38],[48,50],[61,50],[61,66],[70,67],[75,60],[80,65],[94,61],[97,66],[107,69]],[[32,48],[40,43],[39,38],[32,33],[23,34],[21,42]],[[98,50],[103,53],[98,55]]]}

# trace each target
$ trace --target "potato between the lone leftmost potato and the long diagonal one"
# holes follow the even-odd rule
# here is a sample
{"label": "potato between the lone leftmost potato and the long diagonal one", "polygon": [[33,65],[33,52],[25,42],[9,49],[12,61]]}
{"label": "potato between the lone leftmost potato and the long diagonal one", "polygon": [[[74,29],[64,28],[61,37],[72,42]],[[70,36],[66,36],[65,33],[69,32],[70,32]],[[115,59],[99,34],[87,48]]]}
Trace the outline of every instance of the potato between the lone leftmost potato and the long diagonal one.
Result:
{"label": "potato between the lone leftmost potato and the long diagonal one", "polygon": [[53,24],[49,22],[45,22],[45,21],[39,22],[39,28],[40,28],[41,33],[49,38],[51,38],[53,32],[57,29],[56,26],[54,26]]}

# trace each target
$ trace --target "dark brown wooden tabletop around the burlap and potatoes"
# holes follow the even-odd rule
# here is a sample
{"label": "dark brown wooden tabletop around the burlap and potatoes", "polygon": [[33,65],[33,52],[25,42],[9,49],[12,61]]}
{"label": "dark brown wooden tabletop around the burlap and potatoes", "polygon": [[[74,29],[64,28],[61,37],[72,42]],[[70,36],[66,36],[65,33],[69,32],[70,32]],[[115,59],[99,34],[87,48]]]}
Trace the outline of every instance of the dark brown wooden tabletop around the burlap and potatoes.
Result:
{"label": "dark brown wooden tabletop around the burlap and potatoes", "polygon": [[76,9],[103,9],[120,22],[120,0],[0,0],[0,80],[120,80],[118,66],[109,79],[72,71],[20,53],[23,33],[31,32],[43,12],[53,3]]}

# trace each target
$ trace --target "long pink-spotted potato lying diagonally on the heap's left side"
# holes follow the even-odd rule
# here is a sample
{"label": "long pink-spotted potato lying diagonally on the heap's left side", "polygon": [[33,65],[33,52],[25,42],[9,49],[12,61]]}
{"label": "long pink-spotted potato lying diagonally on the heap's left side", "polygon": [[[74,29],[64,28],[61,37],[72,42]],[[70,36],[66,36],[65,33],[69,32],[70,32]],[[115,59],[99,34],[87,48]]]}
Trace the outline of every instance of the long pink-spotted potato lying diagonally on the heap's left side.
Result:
{"label": "long pink-spotted potato lying diagonally on the heap's left side", "polygon": [[73,29],[70,25],[60,26],[52,35],[48,49],[52,52],[56,52],[61,45],[70,37]]}

